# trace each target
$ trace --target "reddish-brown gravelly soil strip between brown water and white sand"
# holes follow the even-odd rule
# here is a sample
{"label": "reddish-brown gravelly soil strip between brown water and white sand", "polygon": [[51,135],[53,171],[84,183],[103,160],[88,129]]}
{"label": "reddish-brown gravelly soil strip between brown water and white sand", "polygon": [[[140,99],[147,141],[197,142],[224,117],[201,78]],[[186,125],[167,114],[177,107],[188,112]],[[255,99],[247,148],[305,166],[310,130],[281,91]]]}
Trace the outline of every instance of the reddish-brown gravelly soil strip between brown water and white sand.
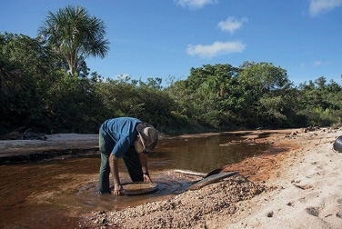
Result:
{"label": "reddish-brown gravelly soil strip between brown water and white sand", "polygon": [[[240,202],[277,189],[276,186],[266,184],[272,179],[277,179],[281,173],[281,164],[286,162],[291,152],[297,149],[298,145],[292,139],[297,131],[299,130],[255,131],[246,134],[244,141],[248,143],[267,143],[273,144],[273,147],[267,154],[247,158],[241,163],[224,167],[223,172],[238,171],[239,174],[195,191],[186,191],[174,199],[130,207],[122,211],[87,214],[83,226],[86,228],[217,228],[224,226],[226,222],[220,219],[229,218],[236,214],[236,211],[240,211]],[[267,134],[267,137],[257,138],[259,134]],[[201,135],[198,134],[197,137]],[[191,135],[191,137],[194,136]]]}

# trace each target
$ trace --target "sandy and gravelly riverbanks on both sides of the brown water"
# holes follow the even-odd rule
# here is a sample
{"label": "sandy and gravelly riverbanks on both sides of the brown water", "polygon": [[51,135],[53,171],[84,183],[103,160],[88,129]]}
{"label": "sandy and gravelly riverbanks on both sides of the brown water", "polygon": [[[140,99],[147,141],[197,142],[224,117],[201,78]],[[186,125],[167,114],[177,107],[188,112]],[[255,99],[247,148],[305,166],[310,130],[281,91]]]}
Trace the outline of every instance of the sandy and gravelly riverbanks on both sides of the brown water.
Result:
{"label": "sandy and gravelly riverbanks on both sides of the brown water", "polygon": [[[85,213],[80,215],[79,225],[83,228],[340,228],[342,154],[332,150],[332,143],[342,129],[229,134],[243,135],[245,143],[267,143],[273,147],[261,156],[226,165],[224,171],[239,174],[220,183],[121,211]],[[212,134],[179,138],[207,135]],[[0,141],[0,154],[45,150],[54,154],[55,149],[96,148],[96,144],[97,134],[54,134],[48,135],[46,141]],[[168,175],[183,174],[170,171]]]}

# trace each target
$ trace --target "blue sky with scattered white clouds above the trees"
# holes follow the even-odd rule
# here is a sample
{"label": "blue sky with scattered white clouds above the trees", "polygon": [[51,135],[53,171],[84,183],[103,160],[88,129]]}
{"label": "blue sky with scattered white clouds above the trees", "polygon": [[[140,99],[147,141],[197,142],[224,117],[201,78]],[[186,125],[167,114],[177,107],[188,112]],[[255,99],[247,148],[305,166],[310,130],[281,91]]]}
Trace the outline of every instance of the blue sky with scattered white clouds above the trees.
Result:
{"label": "blue sky with scattered white clouds above the trees", "polygon": [[82,5],[106,24],[110,51],[91,72],[186,79],[191,67],[244,61],[287,69],[298,85],[341,83],[342,0],[0,0],[0,32],[35,37],[48,11]]}

